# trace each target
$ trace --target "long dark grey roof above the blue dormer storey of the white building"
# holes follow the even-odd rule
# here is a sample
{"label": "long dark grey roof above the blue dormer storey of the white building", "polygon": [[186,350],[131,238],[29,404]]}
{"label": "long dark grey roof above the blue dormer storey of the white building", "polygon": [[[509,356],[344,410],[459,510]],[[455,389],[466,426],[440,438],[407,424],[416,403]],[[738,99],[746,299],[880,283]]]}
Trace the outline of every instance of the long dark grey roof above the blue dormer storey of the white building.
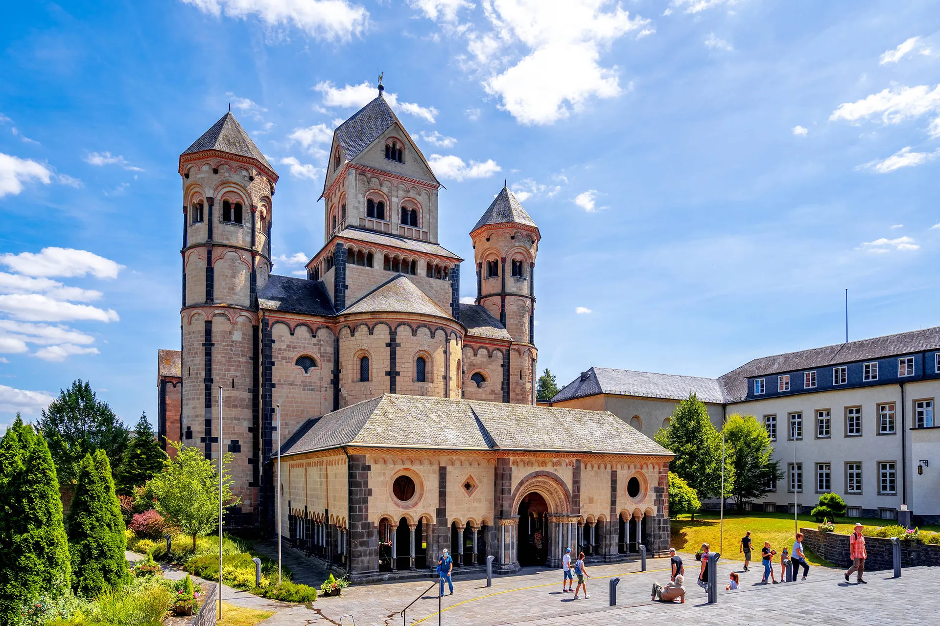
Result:
{"label": "long dark grey roof above the blue dormer storey of the white building", "polygon": [[812,370],[826,365],[838,365],[859,360],[884,359],[894,355],[936,350],[940,348],[940,327],[900,332],[884,337],[862,339],[847,344],[825,345],[772,357],[761,357],[744,363],[718,380],[729,401],[747,396],[747,378],[764,374]]}

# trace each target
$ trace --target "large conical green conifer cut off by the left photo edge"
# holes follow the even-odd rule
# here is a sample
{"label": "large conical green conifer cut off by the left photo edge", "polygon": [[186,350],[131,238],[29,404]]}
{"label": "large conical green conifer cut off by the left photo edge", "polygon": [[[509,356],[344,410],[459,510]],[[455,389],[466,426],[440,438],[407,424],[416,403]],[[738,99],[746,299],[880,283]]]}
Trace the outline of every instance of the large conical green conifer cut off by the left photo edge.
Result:
{"label": "large conical green conifer cut off by the left photo edge", "polygon": [[46,440],[20,416],[0,440],[0,623],[71,584],[62,500]]}

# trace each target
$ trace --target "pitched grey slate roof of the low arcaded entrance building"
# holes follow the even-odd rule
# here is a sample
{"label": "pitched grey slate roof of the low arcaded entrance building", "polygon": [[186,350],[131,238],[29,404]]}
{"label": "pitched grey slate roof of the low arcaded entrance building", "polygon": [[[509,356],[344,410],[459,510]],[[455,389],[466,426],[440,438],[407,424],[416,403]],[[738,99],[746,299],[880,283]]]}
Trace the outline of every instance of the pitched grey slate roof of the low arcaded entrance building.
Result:
{"label": "pitched grey slate roof of the low arcaded entrance building", "polygon": [[668,450],[607,411],[456,398],[384,394],[327,413],[304,428],[304,434],[292,437],[282,454],[361,446],[671,456]]}

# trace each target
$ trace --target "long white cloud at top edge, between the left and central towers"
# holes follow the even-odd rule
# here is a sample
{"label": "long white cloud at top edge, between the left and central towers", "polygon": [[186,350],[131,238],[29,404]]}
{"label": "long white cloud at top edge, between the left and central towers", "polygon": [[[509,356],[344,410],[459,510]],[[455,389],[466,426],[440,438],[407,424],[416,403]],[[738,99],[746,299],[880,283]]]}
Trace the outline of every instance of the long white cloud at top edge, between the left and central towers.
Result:
{"label": "long white cloud at top edge, between the left and central towers", "polygon": [[368,11],[346,0],[182,0],[216,17],[247,19],[269,26],[292,23],[314,38],[350,39],[368,26]]}

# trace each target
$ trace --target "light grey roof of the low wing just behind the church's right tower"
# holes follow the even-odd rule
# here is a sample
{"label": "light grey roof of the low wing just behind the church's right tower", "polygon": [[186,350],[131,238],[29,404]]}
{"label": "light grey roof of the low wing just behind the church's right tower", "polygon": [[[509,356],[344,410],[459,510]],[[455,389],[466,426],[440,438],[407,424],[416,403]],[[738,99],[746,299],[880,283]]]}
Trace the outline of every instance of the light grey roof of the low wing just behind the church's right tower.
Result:
{"label": "light grey roof of the low wing just behind the church's right tower", "polygon": [[614,370],[606,367],[592,367],[587,370],[558,391],[552,402],[584,398],[599,393],[682,400],[689,397],[690,391],[695,391],[702,402],[725,402],[724,389],[715,378]]}

